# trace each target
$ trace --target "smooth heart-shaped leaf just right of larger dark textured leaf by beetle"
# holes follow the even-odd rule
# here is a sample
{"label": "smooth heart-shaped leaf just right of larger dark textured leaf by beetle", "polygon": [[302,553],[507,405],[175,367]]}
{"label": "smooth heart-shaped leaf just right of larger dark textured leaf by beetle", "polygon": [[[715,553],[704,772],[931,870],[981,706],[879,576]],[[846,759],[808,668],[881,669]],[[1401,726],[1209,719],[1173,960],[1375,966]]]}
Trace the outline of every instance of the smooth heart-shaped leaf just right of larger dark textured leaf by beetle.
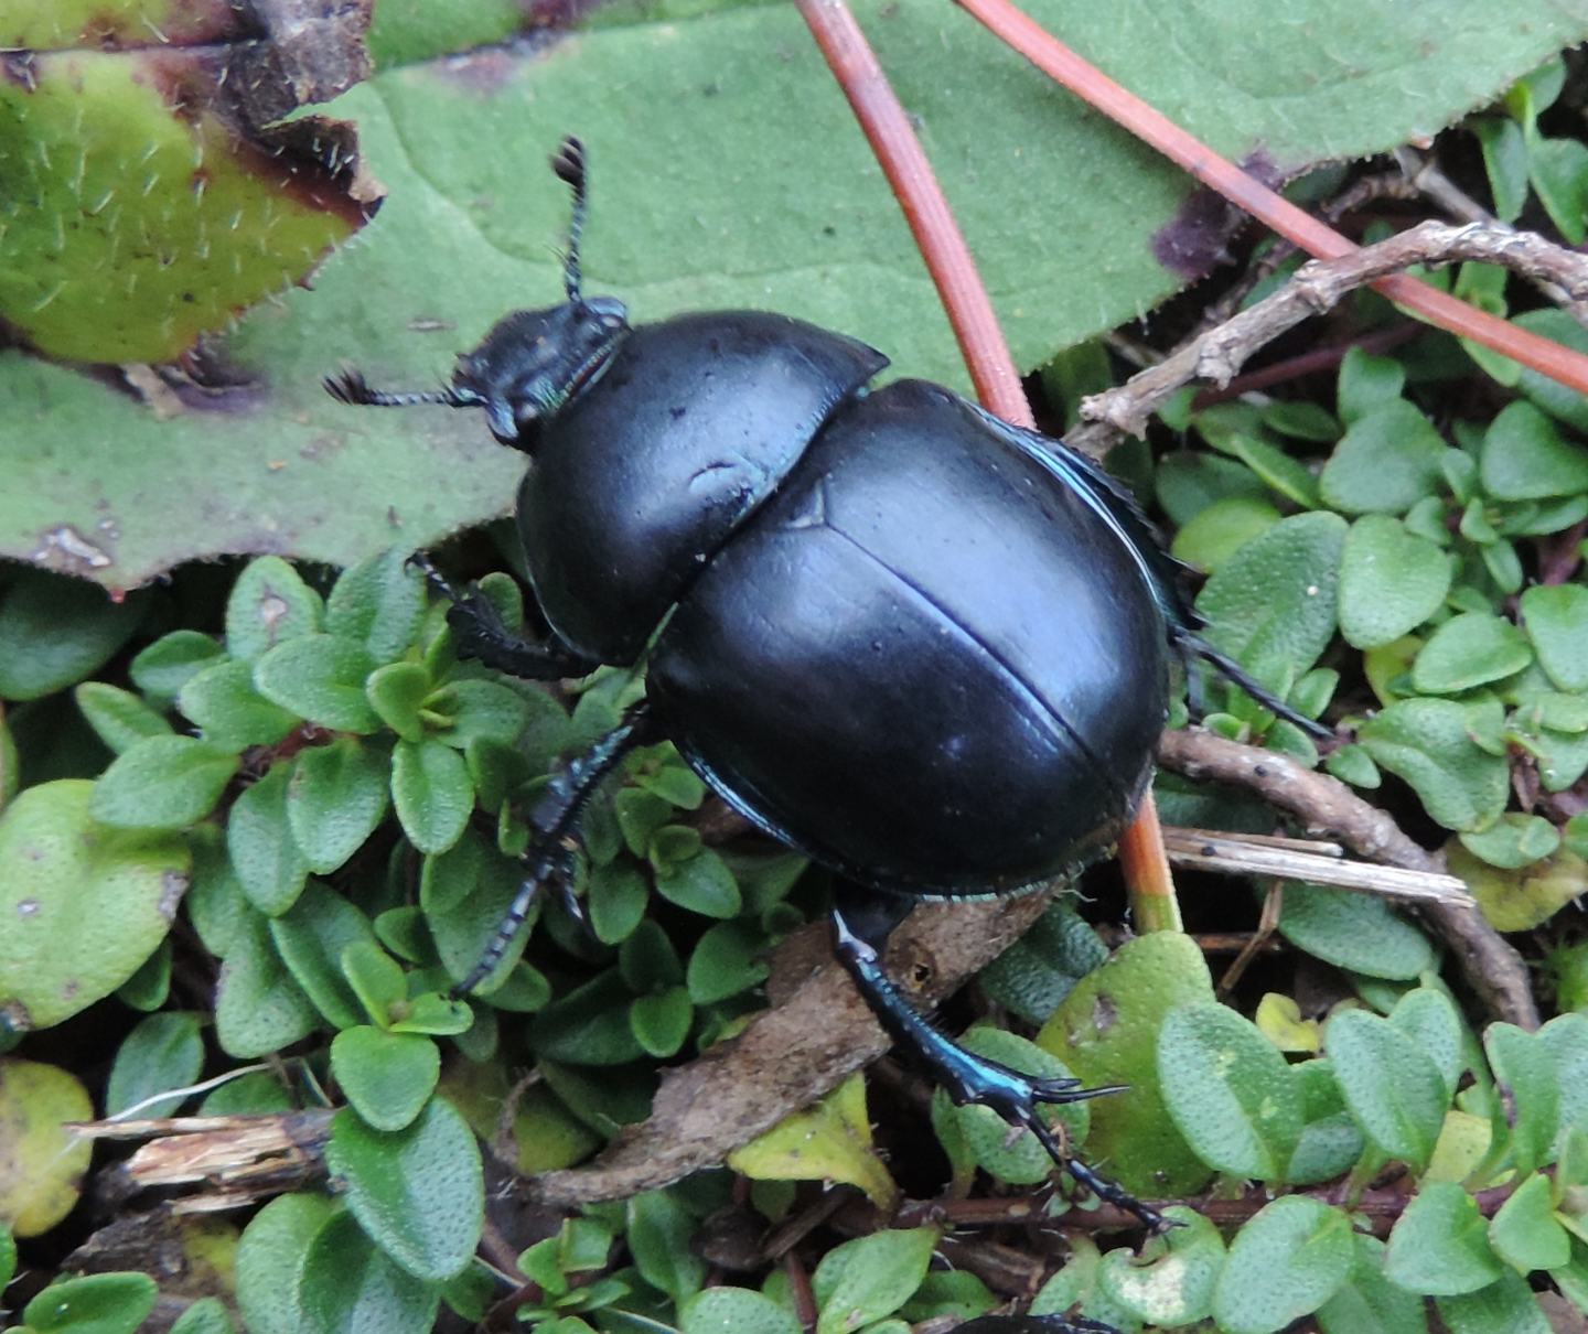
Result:
{"label": "smooth heart-shaped leaf just right of larger dark textured leaf by beetle", "polygon": [[1378,648],[1432,616],[1450,591],[1450,557],[1390,515],[1364,515],[1340,556],[1340,634]]}

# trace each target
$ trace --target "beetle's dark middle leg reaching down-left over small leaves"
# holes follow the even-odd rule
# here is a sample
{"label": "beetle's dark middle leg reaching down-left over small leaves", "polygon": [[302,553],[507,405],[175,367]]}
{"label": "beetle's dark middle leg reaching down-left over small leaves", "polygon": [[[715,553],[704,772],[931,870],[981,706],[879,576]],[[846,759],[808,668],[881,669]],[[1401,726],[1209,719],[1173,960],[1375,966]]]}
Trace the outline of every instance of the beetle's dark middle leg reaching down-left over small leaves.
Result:
{"label": "beetle's dark middle leg reaching down-left over small leaves", "polygon": [[569,856],[578,843],[584,812],[602,780],[622,762],[629,751],[653,740],[656,738],[649,705],[646,700],[640,700],[624,711],[616,727],[551,775],[551,781],[529,812],[529,823],[535,831],[535,842],[526,856],[529,873],[524,877],[511,907],[497,924],[480,961],[453,988],[454,996],[467,996],[502,962],[519,927],[529,918],[529,910],[542,886],[567,866]]}

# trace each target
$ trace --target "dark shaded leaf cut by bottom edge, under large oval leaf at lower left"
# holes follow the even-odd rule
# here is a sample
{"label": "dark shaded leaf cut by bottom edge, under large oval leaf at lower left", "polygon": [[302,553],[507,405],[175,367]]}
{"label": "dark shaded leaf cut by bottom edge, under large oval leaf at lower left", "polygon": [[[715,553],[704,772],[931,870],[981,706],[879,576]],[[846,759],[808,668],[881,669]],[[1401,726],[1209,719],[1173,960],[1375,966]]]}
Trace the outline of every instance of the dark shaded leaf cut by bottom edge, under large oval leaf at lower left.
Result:
{"label": "dark shaded leaf cut by bottom edge, under large oval leaf at lower left", "polygon": [[[422,1204],[416,1204],[422,1209]],[[310,1243],[294,1334],[430,1334],[441,1296],[392,1264],[351,1215],[326,1221]]]}

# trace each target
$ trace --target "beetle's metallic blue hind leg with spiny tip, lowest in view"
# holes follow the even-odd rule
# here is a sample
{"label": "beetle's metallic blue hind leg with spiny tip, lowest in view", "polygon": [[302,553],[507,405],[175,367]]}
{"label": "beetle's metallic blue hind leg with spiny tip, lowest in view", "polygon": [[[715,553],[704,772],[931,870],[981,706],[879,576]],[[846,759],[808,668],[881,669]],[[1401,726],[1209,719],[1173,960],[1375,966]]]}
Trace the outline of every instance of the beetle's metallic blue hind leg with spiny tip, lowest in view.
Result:
{"label": "beetle's metallic blue hind leg with spiny tip, lowest in view", "polygon": [[864,902],[859,912],[851,908],[856,923],[861,923],[862,915],[865,916],[859,931],[851,926],[843,912],[832,910],[838,962],[854,980],[856,988],[888,1035],[915,1053],[956,1104],[978,1102],[983,1107],[991,1107],[1010,1124],[1024,1126],[1037,1137],[1056,1166],[1069,1172],[1093,1194],[1134,1213],[1151,1231],[1161,1232],[1174,1226],[1172,1220],[1148,1209],[1121,1186],[1077,1159],[1075,1155],[1067,1153],[1039,1112],[1043,1104],[1083,1102],[1105,1093],[1118,1093],[1120,1086],[1081,1088],[1080,1080],[1037,1078],[999,1061],[989,1061],[986,1056],[977,1056],[932,1027],[905,1000],[883,970],[877,950],[865,937],[877,942],[885,940],[912,907],[915,904],[904,897],[899,899],[892,912],[888,912],[875,899]]}

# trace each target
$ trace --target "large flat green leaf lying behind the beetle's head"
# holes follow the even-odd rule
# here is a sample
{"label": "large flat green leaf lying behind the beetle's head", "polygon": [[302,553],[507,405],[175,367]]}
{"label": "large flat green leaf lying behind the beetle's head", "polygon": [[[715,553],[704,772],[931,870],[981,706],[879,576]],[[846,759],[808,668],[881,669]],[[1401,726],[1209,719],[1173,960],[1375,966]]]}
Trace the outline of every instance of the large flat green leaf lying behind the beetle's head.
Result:
{"label": "large flat green leaf lying behind the beetle's head", "polygon": [[[1588,33],[1550,0],[1512,0],[1504,24],[1488,0],[1297,0],[1283,22],[1261,0],[1029,8],[1264,175],[1429,135]],[[1221,248],[1183,175],[967,16],[927,0],[858,11],[1023,365],[1150,308]],[[338,100],[389,197],[313,292],[229,340],[246,389],[187,394],[162,419],[102,380],[0,359],[0,403],[27,422],[8,451],[0,553],[127,588],[218,551],[348,564],[502,513],[522,464],[478,419],[338,408],[319,380],[346,357],[381,381],[434,383],[505,307],[556,300],[567,203],[542,160],[569,130],[594,164],[591,291],[642,319],[786,310],[872,341],[899,372],[964,384],[899,210],[792,6],[653,14],[622,6],[567,40],[391,68]]]}

